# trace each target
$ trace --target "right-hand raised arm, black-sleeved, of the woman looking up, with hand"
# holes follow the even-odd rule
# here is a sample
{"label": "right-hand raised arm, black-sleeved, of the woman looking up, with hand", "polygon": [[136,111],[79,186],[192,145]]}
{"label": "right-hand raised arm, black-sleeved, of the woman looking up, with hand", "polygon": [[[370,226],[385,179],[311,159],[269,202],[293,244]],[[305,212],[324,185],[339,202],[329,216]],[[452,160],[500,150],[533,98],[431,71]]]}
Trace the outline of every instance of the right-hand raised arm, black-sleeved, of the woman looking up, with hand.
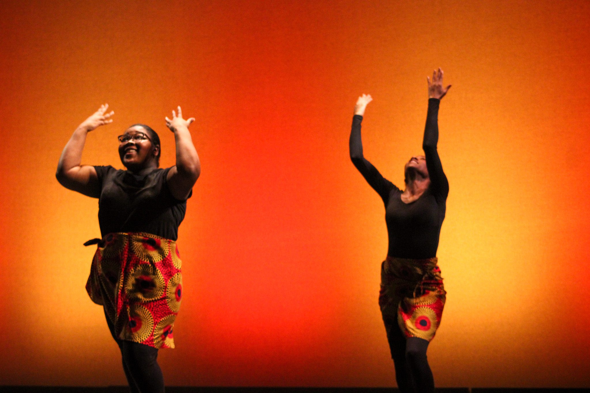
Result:
{"label": "right-hand raised arm, black-sleeved, of the woman looking up, with hand", "polygon": [[440,100],[447,94],[451,85],[446,88],[442,87],[442,70],[432,72],[432,80],[427,77],[428,81],[428,115],[426,117],[426,127],[424,128],[424,140],[422,149],[426,157],[426,167],[428,177],[430,177],[430,188],[435,196],[441,196],[446,199],[448,196],[448,180],[442,171],[442,163],[438,157],[438,105]]}

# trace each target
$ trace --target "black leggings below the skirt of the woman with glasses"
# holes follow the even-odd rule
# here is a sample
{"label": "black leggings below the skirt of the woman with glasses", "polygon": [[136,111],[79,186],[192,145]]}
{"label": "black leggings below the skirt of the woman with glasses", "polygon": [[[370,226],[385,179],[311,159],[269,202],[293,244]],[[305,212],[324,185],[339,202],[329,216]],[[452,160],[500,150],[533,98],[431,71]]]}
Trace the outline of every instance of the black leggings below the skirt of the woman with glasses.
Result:
{"label": "black leggings below the skirt of the woman with glasses", "polygon": [[164,393],[164,377],[158,365],[158,349],[116,338],[113,323],[108,316],[106,318],[111,335],[119,345],[123,371],[132,393]]}

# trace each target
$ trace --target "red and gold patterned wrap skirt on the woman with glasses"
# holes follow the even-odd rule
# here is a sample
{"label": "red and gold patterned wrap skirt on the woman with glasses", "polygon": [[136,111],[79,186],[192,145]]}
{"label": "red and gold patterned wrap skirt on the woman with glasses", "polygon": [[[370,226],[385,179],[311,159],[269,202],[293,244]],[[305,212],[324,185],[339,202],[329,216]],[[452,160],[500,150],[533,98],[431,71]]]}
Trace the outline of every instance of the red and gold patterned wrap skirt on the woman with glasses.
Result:
{"label": "red and gold patterned wrap skirt on the woman with glasses", "polygon": [[98,243],[86,291],[104,307],[115,336],[154,348],[174,348],[181,305],[181,259],[174,240],[150,233],[109,233]]}

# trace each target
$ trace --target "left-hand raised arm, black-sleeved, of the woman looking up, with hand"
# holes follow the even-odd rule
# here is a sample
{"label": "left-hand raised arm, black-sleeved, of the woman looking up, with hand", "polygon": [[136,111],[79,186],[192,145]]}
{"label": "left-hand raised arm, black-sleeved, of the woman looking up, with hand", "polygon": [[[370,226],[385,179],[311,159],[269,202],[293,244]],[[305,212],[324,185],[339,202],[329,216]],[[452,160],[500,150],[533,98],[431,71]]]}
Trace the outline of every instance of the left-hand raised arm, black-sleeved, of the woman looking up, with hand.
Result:
{"label": "left-hand raised arm, black-sleeved, of the woman looking up, with hand", "polygon": [[381,176],[381,173],[379,173],[373,164],[363,156],[363,144],[360,138],[360,123],[363,120],[367,104],[372,100],[371,95],[363,94],[356,101],[355,115],[352,118],[352,130],[350,130],[349,139],[350,160],[352,160],[352,163],[359,170],[360,174],[363,175],[367,183],[381,196],[383,202],[387,202],[389,191],[391,191],[394,185],[391,181]]}

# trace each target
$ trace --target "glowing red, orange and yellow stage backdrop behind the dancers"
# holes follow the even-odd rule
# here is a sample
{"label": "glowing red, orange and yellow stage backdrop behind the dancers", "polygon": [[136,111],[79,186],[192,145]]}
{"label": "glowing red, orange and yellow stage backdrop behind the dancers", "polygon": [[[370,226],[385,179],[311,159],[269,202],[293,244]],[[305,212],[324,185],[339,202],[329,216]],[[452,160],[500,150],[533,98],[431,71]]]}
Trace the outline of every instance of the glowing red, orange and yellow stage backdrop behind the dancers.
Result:
{"label": "glowing red, orange and yellow stage backdrop behind the dancers", "polygon": [[[169,385],[392,386],[377,306],[378,195],[421,150],[426,76],[450,181],[438,257],[447,306],[428,357],[441,387],[590,386],[590,2],[2,2],[0,384],[124,384],[84,284],[97,200],[54,177],[100,104],[83,163],[116,136],[191,126],[202,174],[179,230],[185,295]],[[33,371],[34,370],[34,371]]]}

